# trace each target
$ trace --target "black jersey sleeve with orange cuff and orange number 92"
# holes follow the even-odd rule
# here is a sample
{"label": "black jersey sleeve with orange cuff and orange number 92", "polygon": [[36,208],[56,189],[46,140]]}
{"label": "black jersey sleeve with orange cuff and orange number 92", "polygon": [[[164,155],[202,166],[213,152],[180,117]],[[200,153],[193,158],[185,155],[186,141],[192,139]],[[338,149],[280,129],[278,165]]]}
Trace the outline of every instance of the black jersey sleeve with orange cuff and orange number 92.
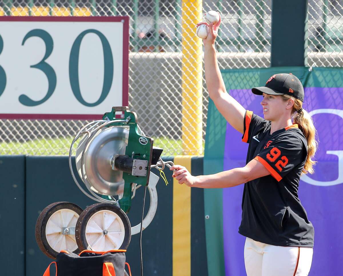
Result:
{"label": "black jersey sleeve with orange cuff and orange number 92", "polygon": [[292,131],[286,131],[277,137],[268,147],[254,158],[280,181],[295,166],[303,162],[303,144]]}

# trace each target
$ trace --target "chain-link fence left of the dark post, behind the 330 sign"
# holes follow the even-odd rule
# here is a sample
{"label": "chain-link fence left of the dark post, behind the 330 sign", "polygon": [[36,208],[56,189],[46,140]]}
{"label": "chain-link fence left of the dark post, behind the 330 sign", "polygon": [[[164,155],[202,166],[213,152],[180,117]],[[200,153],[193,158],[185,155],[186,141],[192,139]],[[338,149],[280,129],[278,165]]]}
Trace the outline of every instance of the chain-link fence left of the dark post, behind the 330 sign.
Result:
{"label": "chain-link fence left of the dark post, behind the 330 sign", "polygon": [[[164,155],[193,154],[181,142],[181,21],[187,1],[196,2],[2,0],[0,15],[129,16],[129,108]],[[203,13],[217,10],[222,15],[217,39],[221,69],[270,66],[271,0],[203,0],[202,6]],[[196,23],[190,26],[194,35]],[[209,99],[204,77],[202,90],[204,142]],[[86,122],[0,120],[0,154],[68,154],[72,137]]]}

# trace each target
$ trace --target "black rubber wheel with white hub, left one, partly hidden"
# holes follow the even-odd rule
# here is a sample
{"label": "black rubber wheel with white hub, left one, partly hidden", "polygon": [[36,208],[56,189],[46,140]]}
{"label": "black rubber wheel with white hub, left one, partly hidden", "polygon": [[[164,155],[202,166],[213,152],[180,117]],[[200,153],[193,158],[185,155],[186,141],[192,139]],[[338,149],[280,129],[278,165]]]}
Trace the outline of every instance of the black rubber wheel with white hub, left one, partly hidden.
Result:
{"label": "black rubber wheel with white hub, left one, partly hidden", "polygon": [[54,202],[44,208],[36,223],[36,241],[39,249],[55,259],[61,250],[80,253],[75,235],[63,235],[63,227],[75,227],[82,208],[70,202]]}

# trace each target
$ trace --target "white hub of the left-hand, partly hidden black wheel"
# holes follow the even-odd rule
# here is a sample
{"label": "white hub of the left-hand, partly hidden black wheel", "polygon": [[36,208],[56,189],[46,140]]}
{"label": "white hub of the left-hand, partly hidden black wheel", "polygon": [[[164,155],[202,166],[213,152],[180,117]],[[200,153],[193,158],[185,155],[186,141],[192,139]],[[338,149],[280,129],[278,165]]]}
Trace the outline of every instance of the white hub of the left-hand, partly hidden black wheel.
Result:
{"label": "white hub of the left-hand, partly hidden black wheel", "polygon": [[75,235],[65,235],[62,229],[75,227],[79,214],[70,209],[61,209],[56,211],[48,219],[45,228],[45,235],[50,247],[56,252],[69,250],[71,252],[78,249]]}

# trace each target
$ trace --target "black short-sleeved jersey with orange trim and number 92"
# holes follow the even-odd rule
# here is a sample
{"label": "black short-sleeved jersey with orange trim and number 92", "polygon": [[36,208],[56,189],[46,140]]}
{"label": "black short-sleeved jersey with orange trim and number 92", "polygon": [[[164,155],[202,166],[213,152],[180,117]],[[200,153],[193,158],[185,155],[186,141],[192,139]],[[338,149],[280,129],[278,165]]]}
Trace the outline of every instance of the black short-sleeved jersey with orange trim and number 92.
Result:
{"label": "black short-sleeved jersey with orange trim and number 92", "polygon": [[244,184],[239,233],[279,246],[313,247],[314,228],[298,198],[307,141],[296,124],[270,134],[271,122],[251,111],[244,116],[246,163],[257,159],[270,175]]}

